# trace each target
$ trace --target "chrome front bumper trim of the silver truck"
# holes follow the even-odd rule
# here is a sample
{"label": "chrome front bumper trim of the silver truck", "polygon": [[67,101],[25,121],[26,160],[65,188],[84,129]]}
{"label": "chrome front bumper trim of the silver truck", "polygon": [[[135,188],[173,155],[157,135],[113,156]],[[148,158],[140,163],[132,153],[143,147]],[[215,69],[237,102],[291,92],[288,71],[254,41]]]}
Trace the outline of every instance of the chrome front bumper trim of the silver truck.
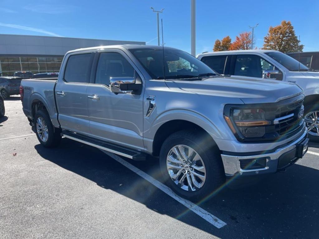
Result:
{"label": "chrome front bumper trim of the silver truck", "polygon": [[[226,155],[221,154],[221,158],[224,164],[224,169],[226,175],[234,175],[234,174],[249,174],[256,173],[258,174],[259,171],[269,171],[269,172],[275,172],[277,171],[277,164],[272,163],[273,161],[278,160],[278,158],[283,155],[284,153],[296,148],[297,143],[302,141],[308,133],[308,129],[306,128],[304,133],[295,141],[292,143],[286,145],[285,147],[278,148],[276,151],[272,153],[267,154],[257,154],[257,155],[249,155],[249,156],[234,156],[234,155]],[[252,145],[253,147],[253,145]],[[266,150],[266,149],[265,149]],[[261,169],[251,169],[251,170],[245,170],[241,169],[240,167],[240,161],[241,159],[255,159],[255,158],[267,158],[267,163],[265,168]],[[274,168],[276,166],[276,168]],[[266,173],[266,171],[264,173]]]}

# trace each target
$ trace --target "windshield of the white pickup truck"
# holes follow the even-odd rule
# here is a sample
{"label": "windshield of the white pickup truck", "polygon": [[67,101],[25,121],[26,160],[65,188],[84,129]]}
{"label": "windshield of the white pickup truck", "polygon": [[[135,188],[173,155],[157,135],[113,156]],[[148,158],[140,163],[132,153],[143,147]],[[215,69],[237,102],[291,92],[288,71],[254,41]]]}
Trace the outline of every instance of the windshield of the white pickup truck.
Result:
{"label": "windshield of the white pickup truck", "polygon": [[293,59],[291,56],[286,55],[282,52],[266,52],[266,55],[269,55],[276,62],[279,62],[284,67],[286,67],[290,71],[308,71],[309,68],[299,63],[297,60]]}

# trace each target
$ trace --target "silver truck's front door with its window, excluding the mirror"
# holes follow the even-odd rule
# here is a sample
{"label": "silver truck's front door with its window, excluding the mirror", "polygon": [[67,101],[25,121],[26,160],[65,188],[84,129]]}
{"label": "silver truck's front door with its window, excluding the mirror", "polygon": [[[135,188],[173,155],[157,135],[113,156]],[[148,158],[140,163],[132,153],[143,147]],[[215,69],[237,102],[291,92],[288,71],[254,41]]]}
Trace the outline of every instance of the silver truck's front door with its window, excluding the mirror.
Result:
{"label": "silver truck's front door with its window, excluding the mirror", "polygon": [[[92,136],[134,149],[143,149],[143,90],[140,95],[110,91],[110,77],[142,75],[122,50],[105,50],[94,60],[87,105]],[[144,87],[143,87],[144,89]]]}

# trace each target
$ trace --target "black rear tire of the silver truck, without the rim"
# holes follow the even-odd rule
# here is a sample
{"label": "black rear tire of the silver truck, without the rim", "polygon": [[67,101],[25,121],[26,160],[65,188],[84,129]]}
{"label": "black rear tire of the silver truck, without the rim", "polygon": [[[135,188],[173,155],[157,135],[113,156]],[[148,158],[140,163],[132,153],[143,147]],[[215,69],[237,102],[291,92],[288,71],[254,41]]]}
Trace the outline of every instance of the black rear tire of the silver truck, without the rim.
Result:
{"label": "black rear tire of the silver truck, without the rim", "polygon": [[[40,118],[41,117],[41,118]],[[37,120],[38,119],[43,119],[47,128],[48,128],[48,137],[46,141],[43,141],[41,139],[41,136],[39,135],[39,132],[37,130]],[[35,125],[35,130],[36,130],[36,135],[39,140],[39,142],[46,148],[53,148],[59,145],[61,141],[61,130],[59,128],[55,128],[52,125],[52,122],[50,120],[49,114],[46,110],[39,110],[35,113],[34,115],[34,125]]]}

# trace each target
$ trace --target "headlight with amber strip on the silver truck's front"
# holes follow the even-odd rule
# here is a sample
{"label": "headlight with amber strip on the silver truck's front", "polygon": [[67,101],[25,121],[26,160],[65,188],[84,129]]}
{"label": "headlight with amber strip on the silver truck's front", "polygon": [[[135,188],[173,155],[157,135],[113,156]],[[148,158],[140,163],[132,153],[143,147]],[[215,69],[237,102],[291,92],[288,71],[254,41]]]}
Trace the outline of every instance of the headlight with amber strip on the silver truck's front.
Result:
{"label": "headlight with amber strip on the silver truck's front", "polygon": [[263,109],[231,108],[228,115],[224,118],[233,133],[246,138],[263,137],[265,126],[271,124]]}

